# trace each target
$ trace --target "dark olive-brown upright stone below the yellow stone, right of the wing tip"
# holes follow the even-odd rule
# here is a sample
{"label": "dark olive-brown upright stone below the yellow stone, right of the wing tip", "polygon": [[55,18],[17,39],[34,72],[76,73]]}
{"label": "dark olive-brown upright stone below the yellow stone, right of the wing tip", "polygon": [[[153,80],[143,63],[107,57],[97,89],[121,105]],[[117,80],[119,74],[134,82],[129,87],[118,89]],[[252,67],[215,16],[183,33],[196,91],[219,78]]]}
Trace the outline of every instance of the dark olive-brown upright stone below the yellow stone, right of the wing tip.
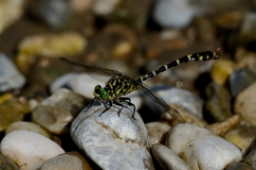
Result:
{"label": "dark olive-brown upright stone below the yellow stone, right of the wing tip", "polygon": [[206,110],[215,121],[224,121],[231,117],[231,96],[224,86],[211,82],[206,88],[206,94]]}

